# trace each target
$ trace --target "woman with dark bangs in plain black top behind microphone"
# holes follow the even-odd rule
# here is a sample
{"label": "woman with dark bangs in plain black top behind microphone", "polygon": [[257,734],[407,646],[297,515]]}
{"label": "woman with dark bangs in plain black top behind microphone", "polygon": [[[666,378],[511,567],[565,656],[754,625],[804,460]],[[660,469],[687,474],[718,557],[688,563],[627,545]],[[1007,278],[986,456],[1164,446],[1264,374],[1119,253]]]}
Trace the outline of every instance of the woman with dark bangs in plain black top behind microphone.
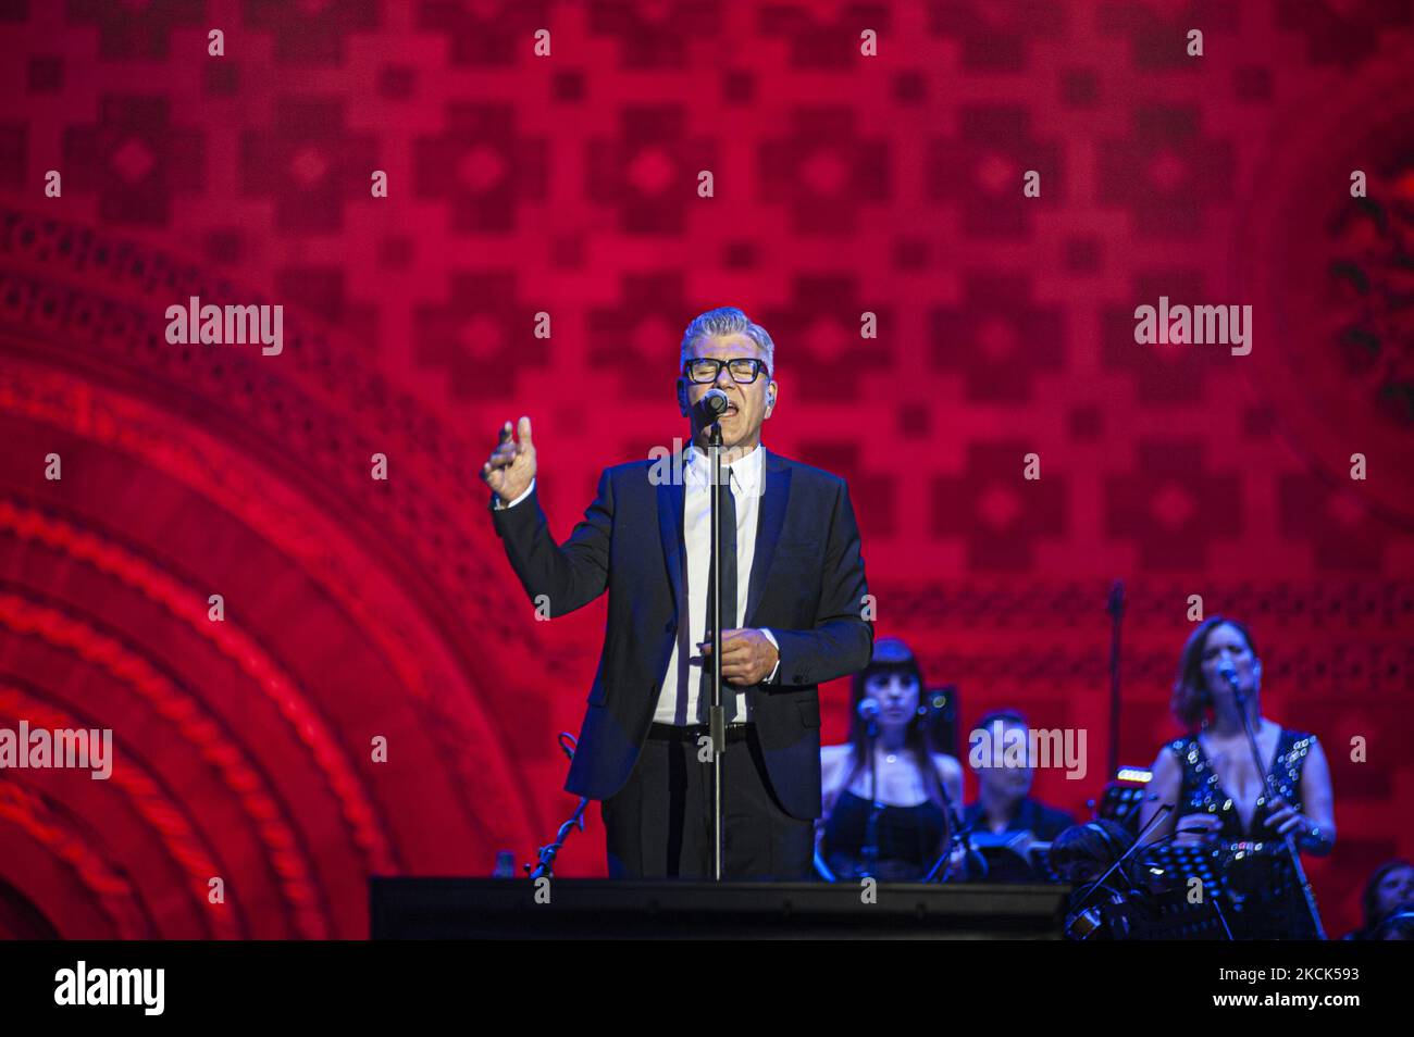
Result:
{"label": "woman with dark bangs in plain black top behind microphone", "polygon": [[[926,709],[921,709],[923,674],[908,646],[896,637],[874,643],[874,658],[854,675],[850,740],[820,749],[823,815],[816,848],[833,877],[881,880],[922,879],[947,849],[954,802],[962,801],[963,770],[952,756],[933,749]],[[868,723],[860,702],[878,704],[871,787]],[[870,815],[877,856],[867,859]]]}

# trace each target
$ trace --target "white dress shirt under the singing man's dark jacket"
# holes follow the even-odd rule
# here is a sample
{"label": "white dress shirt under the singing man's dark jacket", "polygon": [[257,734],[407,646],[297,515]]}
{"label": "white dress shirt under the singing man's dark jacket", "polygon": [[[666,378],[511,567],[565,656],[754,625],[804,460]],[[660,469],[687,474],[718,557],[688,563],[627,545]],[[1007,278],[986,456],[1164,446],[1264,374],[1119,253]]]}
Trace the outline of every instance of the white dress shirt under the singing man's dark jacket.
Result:
{"label": "white dress shirt under the singing man's dark jacket", "polygon": [[[761,497],[765,487],[766,448],[758,445],[751,454],[738,458],[731,465],[723,465],[731,473],[731,490],[737,497],[737,627],[747,620],[747,596],[751,593],[751,565],[756,554],[756,523],[761,518]],[[703,656],[697,648],[707,639],[707,582],[711,568],[711,465],[707,455],[693,445],[683,463],[683,538],[687,545],[687,571],[683,574],[687,596],[687,623],[679,623],[673,640],[673,653],[667,660],[667,671],[658,694],[658,723],[699,723],[697,692],[701,682]],[[530,496],[534,479],[510,503],[496,499],[496,507],[515,507]],[[679,617],[682,619],[682,617]],[[762,630],[766,639],[781,646],[769,630]],[[781,660],[764,682],[771,682],[781,671]],[[747,694],[723,678],[723,695],[737,695],[735,722],[749,721]]]}

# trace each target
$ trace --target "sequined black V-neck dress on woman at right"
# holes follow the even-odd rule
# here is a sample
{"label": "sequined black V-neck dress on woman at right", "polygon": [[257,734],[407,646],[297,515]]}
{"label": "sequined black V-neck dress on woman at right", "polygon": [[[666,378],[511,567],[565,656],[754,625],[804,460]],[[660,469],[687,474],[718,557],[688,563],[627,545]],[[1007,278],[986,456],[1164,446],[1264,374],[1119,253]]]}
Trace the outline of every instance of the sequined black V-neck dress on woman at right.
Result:
{"label": "sequined black V-neck dress on woman at right", "polygon": [[[1277,737],[1273,784],[1297,811],[1301,811],[1301,770],[1315,742],[1315,735],[1285,728]],[[1315,925],[1285,843],[1266,825],[1271,815],[1266,794],[1257,798],[1251,828],[1243,831],[1237,805],[1217,781],[1198,736],[1175,739],[1168,749],[1184,767],[1175,815],[1212,814],[1222,821],[1219,842],[1212,849],[1212,866],[1222,876],[1220,907],[1233,938],[1315,940]]]}

